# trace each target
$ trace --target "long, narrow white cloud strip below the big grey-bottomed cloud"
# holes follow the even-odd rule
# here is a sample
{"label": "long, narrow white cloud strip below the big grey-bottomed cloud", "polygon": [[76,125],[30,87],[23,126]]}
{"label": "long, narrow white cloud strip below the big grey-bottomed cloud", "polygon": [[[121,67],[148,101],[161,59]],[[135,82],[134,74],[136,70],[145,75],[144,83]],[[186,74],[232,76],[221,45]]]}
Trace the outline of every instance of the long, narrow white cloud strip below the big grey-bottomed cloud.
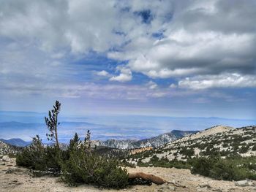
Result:
{"label": "long, narrow white cloud strip below the big grey-bottomed cloud", "polygon": [[219,74],[201,75],[178,82],[179,88],[206,89],[206,88],[255,88],[255,75]]}

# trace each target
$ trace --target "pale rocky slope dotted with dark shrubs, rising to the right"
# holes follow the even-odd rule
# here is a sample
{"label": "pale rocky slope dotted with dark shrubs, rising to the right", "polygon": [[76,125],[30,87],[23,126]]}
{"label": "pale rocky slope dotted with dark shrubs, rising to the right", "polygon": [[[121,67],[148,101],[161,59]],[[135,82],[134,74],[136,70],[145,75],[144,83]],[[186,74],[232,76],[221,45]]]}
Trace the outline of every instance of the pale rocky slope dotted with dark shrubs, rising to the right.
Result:
{"label": "pale rocky slope dotted with dark shrubs, rising to the right", "polygon": [[[256,126],[231,128],[214,126],[196,134],[177,139],[163,147],[136,155],[132,163],[148,162],[153,156],[187,161],[188,157],[221,155],[256,156]],[[131,158],[129,159],[131,160]]]}

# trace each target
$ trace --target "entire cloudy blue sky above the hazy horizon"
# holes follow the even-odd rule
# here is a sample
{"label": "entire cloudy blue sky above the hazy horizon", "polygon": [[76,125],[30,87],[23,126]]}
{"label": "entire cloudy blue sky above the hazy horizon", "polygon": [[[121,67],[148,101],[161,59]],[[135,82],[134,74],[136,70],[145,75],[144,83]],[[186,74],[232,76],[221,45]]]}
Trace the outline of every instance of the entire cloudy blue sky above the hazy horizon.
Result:
{"label": "entire cloudy blue sky above the hazy horizon", "polygon": [[0,110],[256,119],[256,1],[0,0]]}

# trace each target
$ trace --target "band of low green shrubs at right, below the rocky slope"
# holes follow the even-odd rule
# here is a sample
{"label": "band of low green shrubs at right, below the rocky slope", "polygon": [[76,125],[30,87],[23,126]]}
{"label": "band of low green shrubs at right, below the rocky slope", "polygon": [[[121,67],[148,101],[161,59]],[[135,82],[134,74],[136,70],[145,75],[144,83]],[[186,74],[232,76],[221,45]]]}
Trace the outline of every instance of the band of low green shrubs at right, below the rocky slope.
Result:
{"label": "band of low green shrubs at right, below the rocky slope", "polygon": [[138,166],[160,166],[177,169],[191,169],[192,174],[201,174],[216,180],[256,180],[256,158],[243,158],[239,155],[221,158],[219,155],[209,157],[188,158],[187,161],[176,159],[169,161],[166,157],[152,156],[150,161],[143,163],[141,159]]}

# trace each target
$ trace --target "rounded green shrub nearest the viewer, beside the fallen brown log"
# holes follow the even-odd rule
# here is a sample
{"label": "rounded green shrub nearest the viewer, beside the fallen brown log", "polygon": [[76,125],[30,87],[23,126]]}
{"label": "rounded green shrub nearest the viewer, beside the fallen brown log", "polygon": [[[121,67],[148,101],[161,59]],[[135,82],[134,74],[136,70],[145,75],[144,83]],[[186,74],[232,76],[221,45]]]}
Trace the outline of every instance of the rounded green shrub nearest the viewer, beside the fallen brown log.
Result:
{"label": "rounded green shrub nearest the viewer, beside the fallen brown log", "polygon": [[69,185],[92,183],[107,188],[124,188],[128,185],[127,170],[118,167],[118,161],[86,152],[83,145],[71,151],[61,170],[62,179]]}

